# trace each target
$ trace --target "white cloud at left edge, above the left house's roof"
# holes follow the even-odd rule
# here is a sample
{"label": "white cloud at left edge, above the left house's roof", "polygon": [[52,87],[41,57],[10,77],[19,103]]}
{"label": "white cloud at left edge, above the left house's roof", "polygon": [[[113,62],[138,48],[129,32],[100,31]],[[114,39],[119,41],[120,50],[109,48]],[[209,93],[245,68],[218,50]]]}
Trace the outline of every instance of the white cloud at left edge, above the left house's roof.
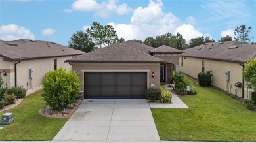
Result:
{"label": "white cloud at left edge, above the left house's roof", "polygon": [[35,39],[35,35],[25,27],[9,24],[0,26],[0,39],[17,40],[17,39]]}

